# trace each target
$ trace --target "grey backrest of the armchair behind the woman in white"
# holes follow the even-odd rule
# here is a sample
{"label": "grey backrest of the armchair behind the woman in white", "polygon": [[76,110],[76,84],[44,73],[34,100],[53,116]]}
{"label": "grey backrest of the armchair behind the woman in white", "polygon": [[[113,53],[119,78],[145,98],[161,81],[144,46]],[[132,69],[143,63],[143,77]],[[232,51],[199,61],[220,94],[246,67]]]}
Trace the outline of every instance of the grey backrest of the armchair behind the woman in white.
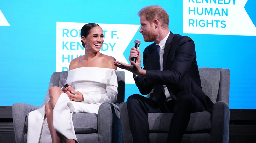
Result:
{"label": "grey backrest of the armchair behind the woman in white", "polygon": [[[62,78],[67,79],[67,77],[68,77],[68,71],[54,72],[52,74],[43,105],[45,105],[49,100],[49,89],[54,86],[62,88],[63,85],[60,84],[60,80]],[[124,71],[117,71],[117,82],[118,82],[118,95],[117,95],[117,101],[115,102],[115,104],[119,106],[119,103],[124,102],[124,87],[125,87]]]}

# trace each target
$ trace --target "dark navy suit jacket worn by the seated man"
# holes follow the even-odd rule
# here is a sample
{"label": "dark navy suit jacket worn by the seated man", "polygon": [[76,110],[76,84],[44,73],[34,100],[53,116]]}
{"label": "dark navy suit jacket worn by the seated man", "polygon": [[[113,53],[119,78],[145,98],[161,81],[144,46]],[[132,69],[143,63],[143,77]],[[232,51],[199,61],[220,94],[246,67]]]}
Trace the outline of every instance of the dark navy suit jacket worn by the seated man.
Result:
{"label": "dark navy suit jacket worn by the seated man", "polygon": [[156,48],[156,43],[153,43],[143,52],[146,78],[135,78],[141,94],[147,95],[154,88],[149,98],[155,96],[163,104],[166,97],[162,85],[166,85],[173,99],[176,99],[179,92],[187,91],[196,96],[207,111],[212,112],[213,102],[202,91],[194,41],[187,36],[170,32],[164,48],[163,71],[160,71]]}

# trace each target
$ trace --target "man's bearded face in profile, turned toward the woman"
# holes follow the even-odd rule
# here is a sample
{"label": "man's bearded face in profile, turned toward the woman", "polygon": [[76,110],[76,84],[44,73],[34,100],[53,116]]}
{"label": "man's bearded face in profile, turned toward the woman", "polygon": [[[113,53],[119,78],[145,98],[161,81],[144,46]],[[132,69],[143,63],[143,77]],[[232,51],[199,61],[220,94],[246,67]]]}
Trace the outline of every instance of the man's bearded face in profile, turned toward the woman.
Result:
{"label": "man's bearded face in profile, turned toward the woman", "polygon": [[140,24],[141,28],[139,32],[143,35],[144,41],[154,42],[157,38],[157,32],[153,28],[153,23],[150,24],[150,22],[146,20],[145,14],[140,16]]}

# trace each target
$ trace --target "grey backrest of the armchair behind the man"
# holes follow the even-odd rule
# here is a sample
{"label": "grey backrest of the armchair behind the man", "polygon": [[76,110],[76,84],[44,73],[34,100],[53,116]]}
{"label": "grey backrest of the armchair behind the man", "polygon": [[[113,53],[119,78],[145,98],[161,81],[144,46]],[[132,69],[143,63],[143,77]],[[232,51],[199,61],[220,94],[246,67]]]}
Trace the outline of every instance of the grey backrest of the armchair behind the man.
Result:
{"label": "grey backrest of the armchair behind the man", "polygon": [[229,106],[230,70],[198,68],[203,92],[213,103],[223,101]]}

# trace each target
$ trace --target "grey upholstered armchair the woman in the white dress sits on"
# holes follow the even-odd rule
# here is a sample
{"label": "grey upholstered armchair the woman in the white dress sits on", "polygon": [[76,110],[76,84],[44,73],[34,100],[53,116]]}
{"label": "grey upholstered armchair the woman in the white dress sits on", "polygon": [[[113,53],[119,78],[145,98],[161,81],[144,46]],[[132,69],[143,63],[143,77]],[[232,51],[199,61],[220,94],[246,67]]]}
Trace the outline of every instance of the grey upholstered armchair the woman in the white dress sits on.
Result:
{"label": "grey upholstered armchair the woman in the white dress sits on", "polygon": [[[72,115],[75,134],[79,143],[121,142],[121,122],[119,104],[124,102],[125,72],[117,71],[118,95],[116,103],[102,103],[98,114],[75,113]],[[13,126],[16,143],[27,142],[27,116],[29,112],[39,109],[49,99],[49,89],[53,86],[63,87],[60,79],[67,79],[68,71],[54,72],[51,76],[45,100],[41,106],[15,103],[12,106]]]}

